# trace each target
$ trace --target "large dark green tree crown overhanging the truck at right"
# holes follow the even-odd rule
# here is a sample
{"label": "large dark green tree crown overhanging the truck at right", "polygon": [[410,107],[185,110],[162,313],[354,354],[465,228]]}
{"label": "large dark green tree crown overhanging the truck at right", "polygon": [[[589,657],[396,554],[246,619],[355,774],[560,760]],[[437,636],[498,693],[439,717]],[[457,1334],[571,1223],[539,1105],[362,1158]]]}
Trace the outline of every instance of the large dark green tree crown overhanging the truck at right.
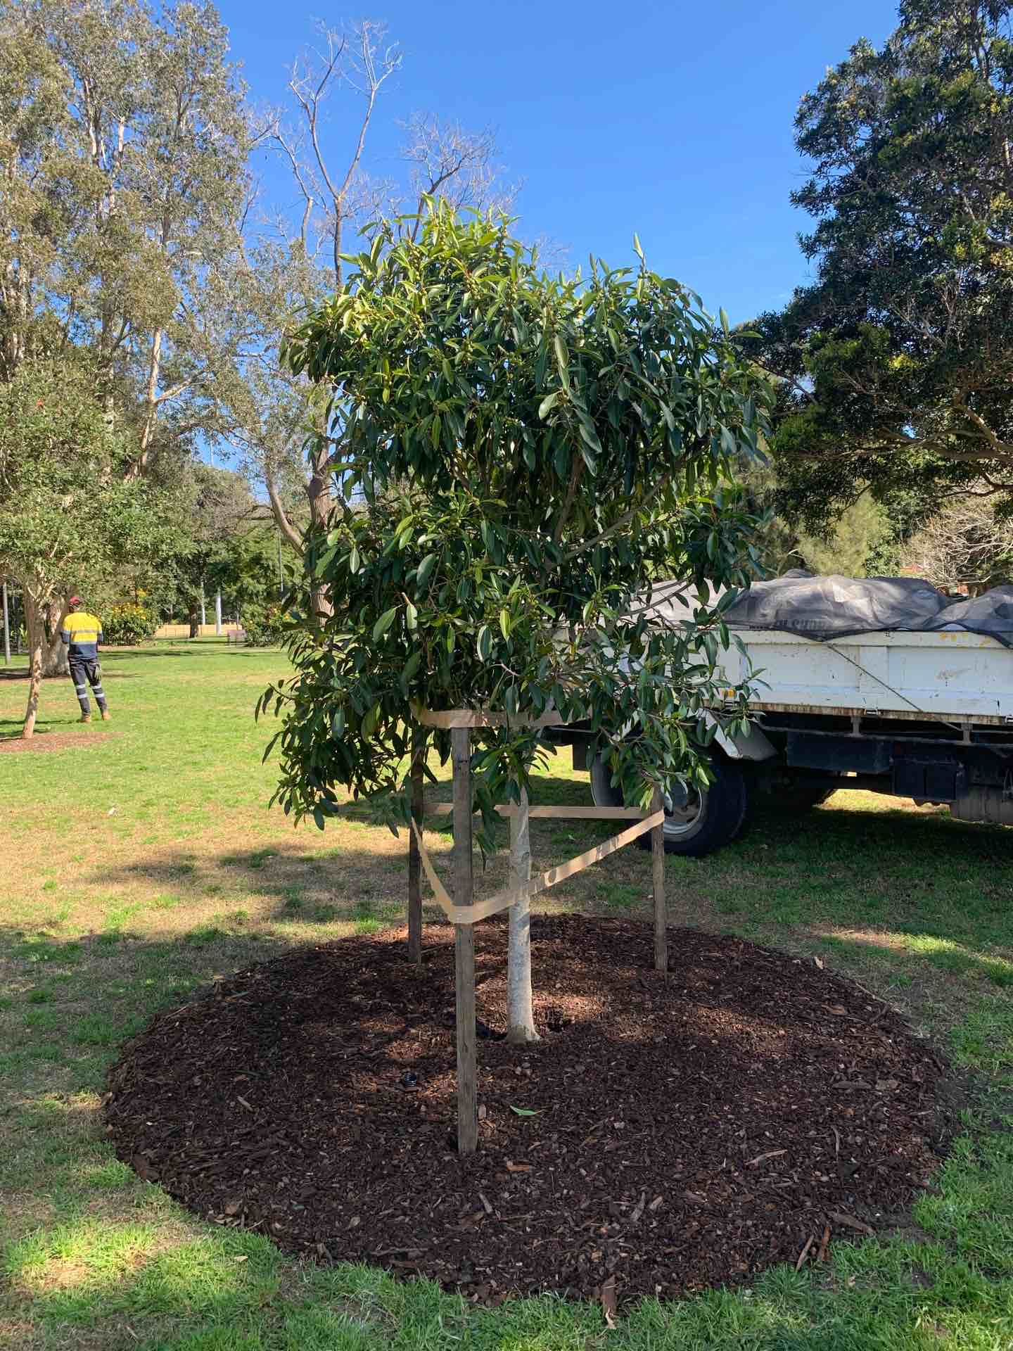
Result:
{"label": "large dark green tree crown overhanging the truck at right", "polygon": [[800,104],[816,281],[746,343],[779,377],[781,503],[810,530],[866,486],[1013,488],[1010,4],[904,0],[900,19]]}

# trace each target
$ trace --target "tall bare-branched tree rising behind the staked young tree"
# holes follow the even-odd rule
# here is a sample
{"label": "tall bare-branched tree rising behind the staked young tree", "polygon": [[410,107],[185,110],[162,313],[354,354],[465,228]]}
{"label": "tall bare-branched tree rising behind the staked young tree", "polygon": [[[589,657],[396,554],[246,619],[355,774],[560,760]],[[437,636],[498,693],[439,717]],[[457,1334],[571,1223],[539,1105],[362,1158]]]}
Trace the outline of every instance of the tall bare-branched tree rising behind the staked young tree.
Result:
{"label": "tall bare-branched tree rising behind the staked young tree", "polygon": [[[292,66],[289,107],[263,118],[267,143],[292,174],[298,211],[294,220],[274,215],[251,232],[231,301],[246,338],[230,439],[263,484],[278,528],[297,553],[303,523],[290,504],[301,497],[311,521],[327,523],[340,486],[340,447],[319,435],[326,400],[278,361],[286,328],[340,289],[350,230],[381,211],[415,209],[424,193],[440,193],[457,207],[502,205],[511,197],[492,132],[467,132],[435,116],[405,126],[407,173],[400,180],[370,177],[369,132],[384,85],[400,69],[400,51],[373,22],[321,27],[319,39]],[[340,93],[344,116],[335,131],[328,111]],[[327,607],[320,590],[316,605]]]}

